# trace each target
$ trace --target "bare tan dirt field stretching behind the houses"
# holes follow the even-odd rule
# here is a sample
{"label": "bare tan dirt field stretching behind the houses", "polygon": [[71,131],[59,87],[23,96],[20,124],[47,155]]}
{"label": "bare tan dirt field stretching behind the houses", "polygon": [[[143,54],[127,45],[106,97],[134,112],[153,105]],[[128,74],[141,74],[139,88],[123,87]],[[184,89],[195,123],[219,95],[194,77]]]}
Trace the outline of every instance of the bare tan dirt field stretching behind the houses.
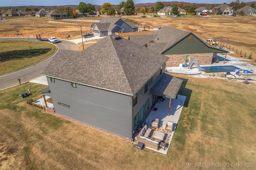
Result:
{"label": "bare tan dirt field stretching behind the houses", "polygon": [[[146,24],[153,29],[155,26],[170,26],[190,31],[201,39],[214,39],[224,42],[224,47],[230,47],[233,57],[248,58],[252,53],[252,61],[256,59],[256,17],[250,16],[216,16],[213,17],[158,17],[122,16],[135,25]],[[106,16],[104,16],[106,17]],[[0,35],[16,35],[16,33],[36,35],[81,35],[79,23],[82,25],[82,33],[92,32],[91,23],[101,20],[100,17],[79,18],[74,20],[51,20],[47,18],[19,18],[5,20],[0,25]],[[72,37],[70,39],[72,39]],[[225,39],[221,38],[225,37]],[[241,52],[242,51],[242,52]],[[244,57],[246,56],[246,57]],[[255,62],[251,62],[255,65]]]}

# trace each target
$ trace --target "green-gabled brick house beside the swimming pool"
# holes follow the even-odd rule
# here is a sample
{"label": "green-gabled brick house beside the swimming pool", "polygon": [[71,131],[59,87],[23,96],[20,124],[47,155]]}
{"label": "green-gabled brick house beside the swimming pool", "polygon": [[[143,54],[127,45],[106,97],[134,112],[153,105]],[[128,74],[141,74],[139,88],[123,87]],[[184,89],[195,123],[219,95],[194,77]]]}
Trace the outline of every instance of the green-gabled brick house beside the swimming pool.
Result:
{"label": "green-gabled brick house beside the swimming pool", "polygon": [[152,35],[130,35],[128,39],[169,57],[166,62],[168,67],[190,63],[194,59],[202,65],[212,64],[212,58],[217,53],[228,53],[207,44],[189,31],[168,26]]}

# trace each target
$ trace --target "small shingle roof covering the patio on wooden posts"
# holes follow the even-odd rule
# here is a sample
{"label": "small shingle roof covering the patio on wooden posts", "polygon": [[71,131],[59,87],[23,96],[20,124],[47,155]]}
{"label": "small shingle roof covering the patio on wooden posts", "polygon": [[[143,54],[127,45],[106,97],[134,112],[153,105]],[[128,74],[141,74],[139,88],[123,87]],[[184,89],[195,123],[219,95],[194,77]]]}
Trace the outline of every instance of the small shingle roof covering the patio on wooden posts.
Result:
{"label": "small shingle roof covering the patio on wooden posts", "polygon": [[182,81],[180,78],[164,73],[151,89],[169,98],[175,98]]}

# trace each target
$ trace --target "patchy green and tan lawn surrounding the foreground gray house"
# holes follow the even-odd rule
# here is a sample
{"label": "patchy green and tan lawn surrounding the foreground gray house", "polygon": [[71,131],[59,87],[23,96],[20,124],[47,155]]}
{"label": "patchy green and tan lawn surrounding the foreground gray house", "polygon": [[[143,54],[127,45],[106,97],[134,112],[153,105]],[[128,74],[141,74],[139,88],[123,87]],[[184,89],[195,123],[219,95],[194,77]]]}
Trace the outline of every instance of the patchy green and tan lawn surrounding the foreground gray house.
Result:
{"label": "patchy green and tan lawn surrounding the foreground gray house", "polygon": [[184,163],[198,165],[186,169],[255,163],[256,85],[172,75],[184,80],[179,94],[187,98],[167,155],[137,150],[129,141],[26,104],[28,98],[41,98],[38,91],[46,87],[31,83],[32,95],[24,99],[18,95],[21,85],[0,91],[0,167],[153,170],[184,169]]}

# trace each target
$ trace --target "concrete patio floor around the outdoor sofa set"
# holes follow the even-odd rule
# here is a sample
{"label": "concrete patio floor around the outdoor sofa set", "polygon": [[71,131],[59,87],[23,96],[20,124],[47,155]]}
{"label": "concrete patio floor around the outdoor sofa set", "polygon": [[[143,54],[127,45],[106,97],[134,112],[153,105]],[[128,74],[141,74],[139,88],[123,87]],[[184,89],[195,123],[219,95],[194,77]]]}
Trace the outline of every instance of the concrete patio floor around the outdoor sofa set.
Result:
{"label": "concrete patio floor around the outdoor sofa set", "polygon": [[[158,127],[161,127],[161,126],[165,127],[167,121],[172,121],[174,122],[174,129],[176,129],[176,127],[178,128],[177,124],[178,124],[180,113],[182,111],[185,100],[186,100],[186,96],[181,96],[181,95],[178,95],[177,99],[171,100],[170,116],[168,116],[169,102],[170,102],[169,98],[165,98],[163,102],[156,103],[155,106],[153,107],[153,109],[157,108],[156,111],[152,109],[152,111],[149,113],[146,119],[148,126],[151,127],[152,120],[154,118],[157,118],[159,119]],[[166,144],[166,149],[163,149],[163,148],[160,148],[159,150],[155,150],[151,148],[148,148],[148,149],[154,150],[156,152],[160,152],[162,154],[167,154],[170,148],[170,144],[171,144],[174,132],[175,130],[172,132],[169,144],[168,145]]]}

